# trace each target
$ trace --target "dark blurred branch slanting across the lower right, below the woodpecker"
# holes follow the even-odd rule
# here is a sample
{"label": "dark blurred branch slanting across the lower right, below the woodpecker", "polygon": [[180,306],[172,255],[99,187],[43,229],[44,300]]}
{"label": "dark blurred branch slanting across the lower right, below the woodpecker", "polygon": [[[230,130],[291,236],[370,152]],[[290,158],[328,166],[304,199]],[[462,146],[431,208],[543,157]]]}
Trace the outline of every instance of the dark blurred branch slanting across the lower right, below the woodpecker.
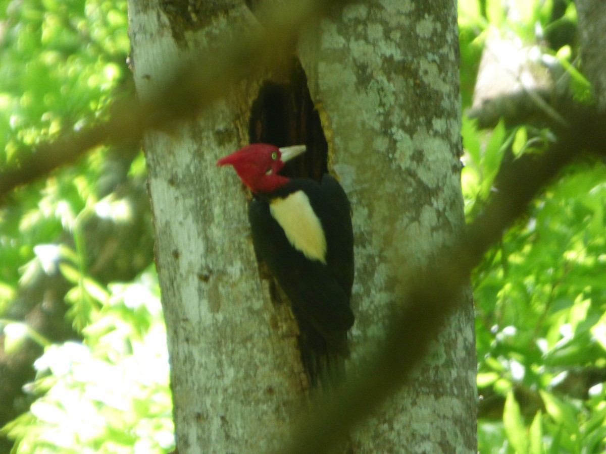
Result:
{"label": "dark blurred branch slanting across the lower right, below the woodpecker", "polygon": [[[392,317],[387,340],[371,360],[348,372],[350,380],[331,396],[319,396],[315,412],[295,427],[285,453],[329,452],[347,433],[402,385],[427,353],[447,317],[456,309],[457,295],[484,253],[525,211],[542,186],[582,153],[606,157],[606,114],[577,111],[568,116],[551,150],[527,154],[501,170],[484,211],[459,235],[454,247],[419,270],[416,285],[401,295],[402,310]],[[460,300],[461,298],[459,298]]]}

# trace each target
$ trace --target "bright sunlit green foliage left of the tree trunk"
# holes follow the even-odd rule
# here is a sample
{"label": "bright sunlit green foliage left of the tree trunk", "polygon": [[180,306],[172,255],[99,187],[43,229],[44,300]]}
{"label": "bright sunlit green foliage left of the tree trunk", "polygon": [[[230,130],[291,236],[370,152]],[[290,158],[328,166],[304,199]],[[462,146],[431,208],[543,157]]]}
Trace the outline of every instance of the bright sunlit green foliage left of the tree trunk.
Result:
{"label": "bright sunlit green foliage left of the tree trunk", "polygon": [[[104,119],[132,91],[125,0],[10,1],[0,21],[0,165],[19,163],[39,143]],[[133,154],[99,148],[18,189],[0,207],[0,351],[18,355],[26,340],[44,347],[36,380],[27,386],[30,411],[0,430],[0,438],[15,440],[15,453],[173,447],[164,321],[150,258],[132,267],[147,268],[135,280],[108,284],[95,277],[104,275],[96,268],[106,251],[96,244],[101,238],[90,237],[91,225],[112,232],[138,225],[124,192],[140,184],[144,159],[129,165],[125,153]],[[116,162],[126,162],[128,180],[108,168]],[[15,306],[32,298],[31,289],[59,278],[68,287],[67,318],[79,340],[53,341],[27,321],[2,318],[20,313]]]}

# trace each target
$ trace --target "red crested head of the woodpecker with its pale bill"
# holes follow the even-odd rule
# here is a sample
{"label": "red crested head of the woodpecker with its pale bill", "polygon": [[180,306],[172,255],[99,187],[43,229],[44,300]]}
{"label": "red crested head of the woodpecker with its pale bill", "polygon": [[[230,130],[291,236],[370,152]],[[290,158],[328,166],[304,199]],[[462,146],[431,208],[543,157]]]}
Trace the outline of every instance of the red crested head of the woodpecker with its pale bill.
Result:
{"label": "red crested head of the woodpecker with its pale bill", "polygon": [[233,165],[242,182],[255,194],[271,192],[288,182],[287,177],[278,175],[284,163],[304,151],[305,145],[278,148],[267,143],[253,143],[222,157],[217,165]]}

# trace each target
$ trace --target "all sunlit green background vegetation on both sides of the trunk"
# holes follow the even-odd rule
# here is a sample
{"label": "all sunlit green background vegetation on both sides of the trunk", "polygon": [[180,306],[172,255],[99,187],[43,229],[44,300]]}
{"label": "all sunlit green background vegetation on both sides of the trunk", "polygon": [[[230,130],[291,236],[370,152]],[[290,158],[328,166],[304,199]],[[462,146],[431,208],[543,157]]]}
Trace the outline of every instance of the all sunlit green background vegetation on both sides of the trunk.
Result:
{"label": "all sunlit green background vegetation on both sides of the trunk", "polygon": [[[591,102],[574,4],[503,3],[459,1],[469,219],[501,164],[541,153],[557,128],[557,102],[517,96],[526,73],[511,68],[529,68],[541,99]],[[507,108],[479,83],[474,97],[491,43],[511,49]],[[0,45],[2,166],[133,91],[125,1],[4,2]],[[606,449],[605,177],[575,163],[474,272],[482,453]],[[144,179],[138,145],[102,147],[2,201],[0,452],[173,449]]]}

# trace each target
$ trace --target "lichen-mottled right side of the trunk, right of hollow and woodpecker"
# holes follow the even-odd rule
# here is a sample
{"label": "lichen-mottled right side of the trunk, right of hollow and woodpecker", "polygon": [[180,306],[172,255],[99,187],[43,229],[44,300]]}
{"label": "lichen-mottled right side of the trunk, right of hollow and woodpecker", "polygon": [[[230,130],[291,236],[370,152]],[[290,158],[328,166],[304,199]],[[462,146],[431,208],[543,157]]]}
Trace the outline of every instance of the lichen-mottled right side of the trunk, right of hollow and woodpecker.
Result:
{"label": "lichen-mottled right side of the trunk, right of hollow and woodpecker", "polygon": [[[418,269],[464,225],[456,2],[367,1],[301,41],[333,169],[354,212],[355,357]],[[413,386],[358,430],[356,452],[476,452],[471,292]]]}

